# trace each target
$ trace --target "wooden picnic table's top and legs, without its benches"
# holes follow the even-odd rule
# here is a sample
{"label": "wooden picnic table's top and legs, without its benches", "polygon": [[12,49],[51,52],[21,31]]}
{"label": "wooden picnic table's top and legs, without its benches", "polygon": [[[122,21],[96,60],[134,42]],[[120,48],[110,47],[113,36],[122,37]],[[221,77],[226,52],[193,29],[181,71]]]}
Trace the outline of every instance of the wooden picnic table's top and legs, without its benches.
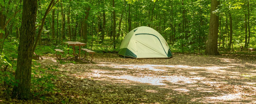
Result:
{"label": "wooden picnic table's top and legs, without its benches", "polygon": [[[84,58],[81,58],[80,57],[80,53],[81,53],[81,46],[85,46],[86,43],[81,43],[81,42],[63,42],[64,44],[67,44],[68,45],[68,48],[69,46],[73,46],[73,58],[76,58],[76,59],[79,59],[81,61],[81,59],[84,59]],[[77,54],[76,54],[76,49],[75,49],[75,46],[79,46],[79,58],[77,58]],[[82,61],[81,61],[82,62]]]}

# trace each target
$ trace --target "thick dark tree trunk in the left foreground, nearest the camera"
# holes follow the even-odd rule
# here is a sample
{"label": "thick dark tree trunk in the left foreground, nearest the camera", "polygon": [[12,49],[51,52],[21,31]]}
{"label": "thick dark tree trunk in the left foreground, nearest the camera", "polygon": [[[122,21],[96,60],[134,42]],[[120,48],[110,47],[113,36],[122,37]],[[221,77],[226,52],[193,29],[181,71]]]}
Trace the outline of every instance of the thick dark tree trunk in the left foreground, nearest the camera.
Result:
{"label": "thick dark tree trunk in the left foreground, nearest the camera", "polygon": [[[13,98],[31,99],[31,65],[35,38],[37,0],[24,0]],[[29,17],[29,18],[28,18]]]}

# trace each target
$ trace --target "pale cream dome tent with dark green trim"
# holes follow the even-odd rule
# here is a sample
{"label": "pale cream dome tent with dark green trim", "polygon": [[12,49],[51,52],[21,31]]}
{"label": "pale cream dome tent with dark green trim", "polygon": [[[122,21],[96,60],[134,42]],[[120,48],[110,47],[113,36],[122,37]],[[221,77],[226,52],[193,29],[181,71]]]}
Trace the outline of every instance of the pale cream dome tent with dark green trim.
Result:
{"label": "pale cream dome tent with dark green trim", "polygon": [[150,27],[130,31],[121,43],[118,55],[133,58],[169,58],[170,48],[164,37]]}

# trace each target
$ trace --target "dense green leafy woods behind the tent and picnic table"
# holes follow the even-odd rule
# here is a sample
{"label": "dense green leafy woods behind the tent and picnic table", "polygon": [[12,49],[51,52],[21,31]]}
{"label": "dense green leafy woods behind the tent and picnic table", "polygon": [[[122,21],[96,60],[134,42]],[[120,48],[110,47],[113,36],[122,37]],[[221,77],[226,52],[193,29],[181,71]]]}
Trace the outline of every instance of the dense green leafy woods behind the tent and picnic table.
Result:
{"label": "dense green leafy woods behind the tent and picnic table", "polygon": [[[118,51],[132,29],[148,26],[166,39],[173,51],[203,53],[209,34],[210,1],[52,1],[38,44],[56,45],[81,41],[93,50]],[[220,1],[218,49],[240,50],[255,46],[254,0]],[[56,4],[55,4],[56,3]],[[1,1],[1,39],[19,40],[22,1]],[[38,33],[50,1],[38,1]],[[29,17],[28,17],[29,18]],[[3,40],[2,40],[3,41]],[[232,47],[233,46],[233,47]]]}

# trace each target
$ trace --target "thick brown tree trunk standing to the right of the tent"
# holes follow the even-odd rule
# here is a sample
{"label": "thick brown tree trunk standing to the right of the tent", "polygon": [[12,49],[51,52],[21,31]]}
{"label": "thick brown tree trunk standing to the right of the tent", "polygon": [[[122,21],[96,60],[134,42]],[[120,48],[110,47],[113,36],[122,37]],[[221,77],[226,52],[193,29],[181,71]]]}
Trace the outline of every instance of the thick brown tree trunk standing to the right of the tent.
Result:
{"label": "thick brown tree trunk standing to the right of the tent", "polygon": [[220,4],[217,0],[211,0],[211,15],[210,15],[210,27],[209,36],[205,49],[206,55],[220,55],[218,52],[218,26],[219,17],[212,12],[215,11]]}

